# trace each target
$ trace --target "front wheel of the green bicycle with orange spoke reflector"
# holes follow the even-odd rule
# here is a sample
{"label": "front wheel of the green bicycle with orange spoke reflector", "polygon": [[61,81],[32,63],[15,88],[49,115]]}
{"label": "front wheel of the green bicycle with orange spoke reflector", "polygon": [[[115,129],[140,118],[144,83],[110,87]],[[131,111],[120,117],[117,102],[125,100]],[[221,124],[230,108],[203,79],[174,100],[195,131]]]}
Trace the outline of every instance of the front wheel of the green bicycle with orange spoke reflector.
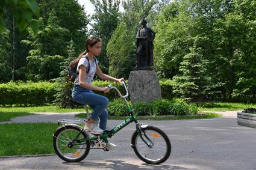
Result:
{"label": "front wheel of the green bicycle with orange spoke reflector", "polygon": [[171,145],[168,136],[160,129],[154,126],[142,128],[142,138],[137,130],[133,133],[131,144],[134,152],[149,164],[160,164],[166,161],[171,152]]}

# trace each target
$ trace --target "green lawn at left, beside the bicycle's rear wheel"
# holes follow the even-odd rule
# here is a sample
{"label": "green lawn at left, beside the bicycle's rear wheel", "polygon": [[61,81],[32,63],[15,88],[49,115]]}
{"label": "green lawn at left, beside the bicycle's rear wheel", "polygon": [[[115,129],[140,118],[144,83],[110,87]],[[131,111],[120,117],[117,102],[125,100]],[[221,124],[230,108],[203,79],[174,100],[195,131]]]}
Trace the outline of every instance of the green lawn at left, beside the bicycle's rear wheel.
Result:
{"label": "green lawn at left, beside the bicycle's rear wheel", "polygon": [[52,154],[52,134],[57,124],[0,124],[0,156]]}

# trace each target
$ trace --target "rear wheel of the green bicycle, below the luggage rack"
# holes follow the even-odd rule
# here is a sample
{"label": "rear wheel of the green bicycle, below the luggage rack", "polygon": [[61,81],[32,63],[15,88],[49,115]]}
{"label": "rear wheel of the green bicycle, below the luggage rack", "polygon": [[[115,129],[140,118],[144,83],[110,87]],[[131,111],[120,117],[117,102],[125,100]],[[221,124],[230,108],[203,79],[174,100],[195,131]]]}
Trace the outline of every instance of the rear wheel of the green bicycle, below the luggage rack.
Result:
{"label": "rear wheel of the green bicycle, below the luggage rack", "polygon": [[[89,154],[90,143],[78,144],[75,139],[81,132],[79,127],[63,126],[54,133],[55,153],[66,162],[80,162]],[[77,139],[87,138],[87,134],[82,132]]]}

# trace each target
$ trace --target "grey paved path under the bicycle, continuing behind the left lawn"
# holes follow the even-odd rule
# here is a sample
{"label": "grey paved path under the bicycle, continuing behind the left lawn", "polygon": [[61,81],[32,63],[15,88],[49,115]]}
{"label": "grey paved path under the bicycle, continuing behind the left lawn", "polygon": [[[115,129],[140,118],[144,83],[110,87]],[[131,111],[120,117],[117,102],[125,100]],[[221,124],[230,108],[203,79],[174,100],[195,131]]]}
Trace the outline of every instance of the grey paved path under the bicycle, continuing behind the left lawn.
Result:
{"label": "grey paved path under the bicycle, continuing behind the left lawn", "polygon": [[[162,165],[148,165],[130,147],[135,130],[130,124],[111,142],[117,150],[91,150],[80,163],[66,163],[57,156],[10,157],[0,159],[0,169],[204,169],[256,170],[256,129],[237,125],[236,112],[225,112],[221,118],[179,121],[140,121],[164,130],[172,142],[170,158]],[[57,115],[34,115],[14,118],[15,122],[55,121]],[[71,117],[72,114],[61,114]],[[108,121],[108,127],[120,123]]]}

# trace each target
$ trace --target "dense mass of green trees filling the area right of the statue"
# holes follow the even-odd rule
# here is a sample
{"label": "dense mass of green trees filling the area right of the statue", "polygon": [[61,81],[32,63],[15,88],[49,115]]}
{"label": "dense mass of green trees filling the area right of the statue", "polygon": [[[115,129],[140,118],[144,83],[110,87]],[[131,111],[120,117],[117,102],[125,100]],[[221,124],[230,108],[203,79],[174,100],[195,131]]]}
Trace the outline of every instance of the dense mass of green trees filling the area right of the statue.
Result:
{"label": "dense mass of green trees filling the area right of the statue", "polygon": [[154,25],[158,75],[174,77],[184,99],[255,102],[255,9],[248,0],[170,2]]}

